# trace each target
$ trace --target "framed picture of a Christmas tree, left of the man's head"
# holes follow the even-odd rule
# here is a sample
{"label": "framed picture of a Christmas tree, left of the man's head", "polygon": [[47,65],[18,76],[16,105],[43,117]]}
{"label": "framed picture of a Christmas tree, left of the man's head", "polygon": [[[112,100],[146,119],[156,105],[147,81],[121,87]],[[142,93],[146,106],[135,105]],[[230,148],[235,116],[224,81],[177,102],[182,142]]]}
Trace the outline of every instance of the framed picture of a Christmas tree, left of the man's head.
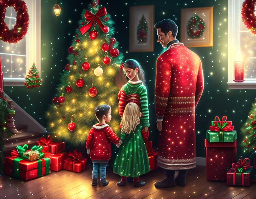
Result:
{"label": "framed picture of a Christmas tree, left of the man's head", "polygon": [[155,6],[130,7],[130,52],[154,51]]}

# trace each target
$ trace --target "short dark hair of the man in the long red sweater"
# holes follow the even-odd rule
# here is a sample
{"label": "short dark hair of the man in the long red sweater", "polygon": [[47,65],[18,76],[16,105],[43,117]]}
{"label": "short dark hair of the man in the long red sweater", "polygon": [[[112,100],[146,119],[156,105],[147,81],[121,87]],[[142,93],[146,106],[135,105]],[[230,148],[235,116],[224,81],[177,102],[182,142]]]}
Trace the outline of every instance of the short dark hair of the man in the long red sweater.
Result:
{"label": "short dark hair of the man in the long red sweater", "polygon": [[178,26],[173,20],[164,19],[155,24],[155,28],[161,28],[161,32],[167,35],[169,31],[172,31],[172,36],[176,37],[178,33]]}

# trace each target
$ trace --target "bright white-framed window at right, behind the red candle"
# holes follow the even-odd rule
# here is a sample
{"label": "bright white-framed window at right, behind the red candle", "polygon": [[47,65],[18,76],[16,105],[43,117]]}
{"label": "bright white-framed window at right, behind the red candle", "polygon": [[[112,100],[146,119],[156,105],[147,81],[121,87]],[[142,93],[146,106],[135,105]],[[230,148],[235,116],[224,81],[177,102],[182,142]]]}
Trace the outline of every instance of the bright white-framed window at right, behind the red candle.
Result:
{"label": "bright white-framed window at right, behind the red candle", "polygon": [[[256,36],[241,20],[244,0],[228,0],[228,86],[256,89]],[[244,61],[244,81],[234,82],[235,61]]]}

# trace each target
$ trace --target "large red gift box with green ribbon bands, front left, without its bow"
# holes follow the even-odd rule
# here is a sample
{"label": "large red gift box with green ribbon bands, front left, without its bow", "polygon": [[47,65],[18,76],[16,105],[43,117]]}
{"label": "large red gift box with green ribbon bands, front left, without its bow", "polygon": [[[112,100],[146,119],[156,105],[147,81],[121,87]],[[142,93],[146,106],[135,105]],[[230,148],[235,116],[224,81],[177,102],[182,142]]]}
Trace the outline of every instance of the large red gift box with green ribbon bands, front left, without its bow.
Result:
{"label": "large red gift box with green ribbon bands, front left, without its bow", "polygon": [[35,161],[26,161],[19,157],[17,158],[9,156],[5,158],[4,172],[16,178],[31,180],[33,178],[39,178],[49,174],[49,165],[49,158],[41,158]]}

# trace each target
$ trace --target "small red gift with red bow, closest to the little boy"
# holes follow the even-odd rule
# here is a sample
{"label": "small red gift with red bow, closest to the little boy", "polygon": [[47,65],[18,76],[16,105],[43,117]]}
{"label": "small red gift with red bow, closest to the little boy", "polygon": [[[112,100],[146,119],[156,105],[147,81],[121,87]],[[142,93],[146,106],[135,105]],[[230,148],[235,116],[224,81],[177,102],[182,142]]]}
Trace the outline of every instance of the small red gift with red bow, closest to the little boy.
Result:
{"label": "small red gift with red bow, closest to the little boy", "polygon": [[80,173],[85,170],[86,166],[87,158],[82,157],[82,154],[76,150],[64,156],[63,168],[66,170]]}

